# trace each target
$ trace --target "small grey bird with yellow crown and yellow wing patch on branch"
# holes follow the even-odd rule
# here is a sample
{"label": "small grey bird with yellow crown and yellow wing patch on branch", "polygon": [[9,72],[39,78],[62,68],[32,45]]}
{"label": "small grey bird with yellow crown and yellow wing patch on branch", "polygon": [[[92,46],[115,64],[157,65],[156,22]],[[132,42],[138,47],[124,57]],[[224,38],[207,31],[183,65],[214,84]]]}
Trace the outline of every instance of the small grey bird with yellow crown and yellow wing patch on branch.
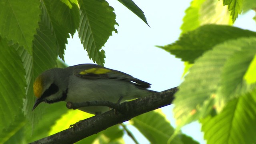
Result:
{"label": "small grey bird with yellow crown and yellow wing patch on branch", "polygon": [[[147,90],[149,83],[117,70],[96,64],[79,64],[67,68],[53,68],[40,74],[34,81],[36,102],[33,110],[41,102],[54,103],[108,101],[121,102],[143,96],[155,91]],[[78,108],[91,114],[109,110],[106,106]]]}

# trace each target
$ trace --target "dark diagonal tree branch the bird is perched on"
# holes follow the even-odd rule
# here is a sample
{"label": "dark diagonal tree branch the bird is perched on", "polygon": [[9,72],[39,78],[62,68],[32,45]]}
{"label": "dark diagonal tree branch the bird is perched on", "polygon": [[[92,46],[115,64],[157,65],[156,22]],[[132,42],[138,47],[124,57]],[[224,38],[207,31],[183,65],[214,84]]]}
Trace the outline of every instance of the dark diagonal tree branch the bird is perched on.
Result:
{"label": "dark diagonal tree branch the bird is perched on", "polygon": [[110,126],[128,121],[140,114],[170,105],[174,100],[174,93],[177,87],[153,94],[148,97],[139,98],[130,102],[120,104],[121,111],[110,110],[103,114],[99,114],[82,120],[77,126],[68,128],[46,138],[42,138],[30,144],[67,144],[75,143],[83,138],[96,134]]}

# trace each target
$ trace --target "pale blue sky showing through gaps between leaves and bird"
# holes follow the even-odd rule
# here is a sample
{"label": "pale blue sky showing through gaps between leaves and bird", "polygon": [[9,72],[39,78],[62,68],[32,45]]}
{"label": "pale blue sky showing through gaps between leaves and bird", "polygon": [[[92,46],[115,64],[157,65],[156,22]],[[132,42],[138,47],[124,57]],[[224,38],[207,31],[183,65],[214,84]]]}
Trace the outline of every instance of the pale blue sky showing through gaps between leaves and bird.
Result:
{"label": "pale blue sky showing through gaps between leaves and bird", "polygon": [[[108,2],[115,9],[119,26],[116,26],[118,34],[113,32],[103,47],[106,52],[105,66],[149,82],[152,84],[151,90],[162,91],[178,86],[182,82],[183,62],[155,46],[164,46],[178,39],[184,11],[190,5],[190,0],[134,0],[143,10],[150,27],[117,0]],[[249,12],[238,18],[235,25],[256,31],[255,21],[251,20],[253,16],[254,12]],[[65,53],[66,64],[70,66],[93,63],[83,50],[77,34],[68,40]],[[166,106],[162,110],[173,125],[172,108]],[[134,131],[141,144],[149,143],[135,128],[128,128]],[[196,122],[185,126],[182,132],[201,144],[205,143],[200,125]],[[127,144],[133,143],[127,136],[125,141]]]}

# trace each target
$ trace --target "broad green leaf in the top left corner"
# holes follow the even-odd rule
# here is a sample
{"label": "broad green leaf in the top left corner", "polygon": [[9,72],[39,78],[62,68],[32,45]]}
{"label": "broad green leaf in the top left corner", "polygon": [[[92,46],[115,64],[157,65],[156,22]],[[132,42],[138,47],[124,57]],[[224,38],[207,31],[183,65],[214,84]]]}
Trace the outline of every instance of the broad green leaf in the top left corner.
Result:
{"label": "broad green leaf in the top left corner", "polygon": [[24,46],[30,54],[32,40],[40,21],[39,5],[38,0],[0,1],[0,35]]}

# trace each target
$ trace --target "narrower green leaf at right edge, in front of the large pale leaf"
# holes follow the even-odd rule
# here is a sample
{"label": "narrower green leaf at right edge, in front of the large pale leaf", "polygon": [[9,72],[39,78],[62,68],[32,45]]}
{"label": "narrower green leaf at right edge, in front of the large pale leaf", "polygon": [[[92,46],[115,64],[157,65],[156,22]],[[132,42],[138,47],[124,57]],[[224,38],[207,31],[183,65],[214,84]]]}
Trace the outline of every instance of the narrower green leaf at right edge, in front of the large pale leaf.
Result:
{"label": "narrower green leaf at right edge, in front of the large pale leaf", "polygon": [[216,94],[215,106],[218,112],[222,110],[227,101],[240,96],[243,92],[247,92],[250,89],[246,86],[246,90],[243,90],[243,77],[256,54],[255,44],[256,39],[254,39],[254,41],[244,41],[242,50],[235,52],[233,56],[226,61],[220,76],[220,84]]}

